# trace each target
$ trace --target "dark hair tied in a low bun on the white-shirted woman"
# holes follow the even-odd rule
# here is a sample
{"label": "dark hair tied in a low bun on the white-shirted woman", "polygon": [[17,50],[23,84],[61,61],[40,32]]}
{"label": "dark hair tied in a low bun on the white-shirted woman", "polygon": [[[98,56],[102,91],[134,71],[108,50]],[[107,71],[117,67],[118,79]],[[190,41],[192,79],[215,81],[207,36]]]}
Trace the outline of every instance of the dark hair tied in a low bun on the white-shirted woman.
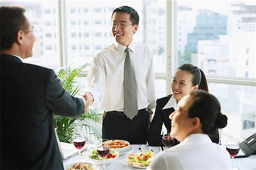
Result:
{"label": "dark hair tied in a low bun on the white-shirted woman", "polygon": [[188,109],[188,117],[198,117],[205,134],[214,135],[217,128],[226,127],[228,117],[221,113],[220,103],[216,97],[204,90],[194,90],[189,95],[192,103]]}

